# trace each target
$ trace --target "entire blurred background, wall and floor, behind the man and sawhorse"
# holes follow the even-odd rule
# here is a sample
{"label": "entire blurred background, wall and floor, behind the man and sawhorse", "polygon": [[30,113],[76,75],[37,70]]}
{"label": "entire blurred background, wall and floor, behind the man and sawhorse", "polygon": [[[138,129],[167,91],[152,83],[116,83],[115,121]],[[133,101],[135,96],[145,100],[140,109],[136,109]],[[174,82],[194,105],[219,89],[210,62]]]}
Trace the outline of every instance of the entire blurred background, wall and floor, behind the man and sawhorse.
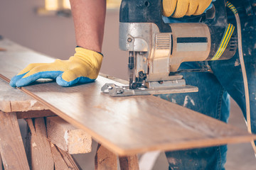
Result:
{"label": "entire blurred background, wall and floor, behind the man and sawhorse", "polygon": [[[127,52],[119,50],[119,0],[107,1],[107,18],[100,72],[127,79]],[[0,0],[0,35],[45,55],[67,60],[75,52],[75,31],[67,0]],[[246,129],[240,108],[231,101],[230,123]],[[21,132],[26,124],[21,120]],[[92,153],[75,155],[82,169],[94,169]],[[229,145],[228,170],[256,169],[255,156],[250,144]],[[156,155],[156,154],[151,154]],[[158,154],[157,154],[158,155]],[[150,159],[148,159],[150,160]],[[149,162],[148,162],[149,163]],[[154,170],[168,169],[164,153],[156,159]],[[149,169],[142,169],[149,170]]]}

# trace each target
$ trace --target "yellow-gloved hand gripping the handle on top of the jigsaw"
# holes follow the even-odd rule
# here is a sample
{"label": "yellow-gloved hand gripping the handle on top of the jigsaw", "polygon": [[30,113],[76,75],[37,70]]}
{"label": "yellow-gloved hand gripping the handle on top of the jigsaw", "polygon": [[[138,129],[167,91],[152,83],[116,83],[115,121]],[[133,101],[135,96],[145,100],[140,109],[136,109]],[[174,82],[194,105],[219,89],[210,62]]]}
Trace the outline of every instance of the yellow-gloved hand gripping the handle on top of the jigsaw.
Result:
{"label": "yellow-gloved hand gripping the handle on top of the jigsaw", "polygon": [[163,0],[164,16],[181,18],[201,15],[212,0]]}

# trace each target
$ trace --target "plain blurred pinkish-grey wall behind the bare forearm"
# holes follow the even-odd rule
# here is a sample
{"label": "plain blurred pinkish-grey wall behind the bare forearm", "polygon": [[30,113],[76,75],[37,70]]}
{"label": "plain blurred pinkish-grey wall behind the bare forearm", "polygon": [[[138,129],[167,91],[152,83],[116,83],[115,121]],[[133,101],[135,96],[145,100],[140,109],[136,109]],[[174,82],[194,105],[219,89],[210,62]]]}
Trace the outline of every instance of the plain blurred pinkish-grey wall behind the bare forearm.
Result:
{"label": "plain blurred pinkish-grey wall behind the bare forearm", "polygon": [[[38,16],[36,8],[44,0],[0,0],[0,35],[46,55],[63,60],[74,54],[73,19],[59,16]],[[127,53],[119,50],[119,13],[107,11],[105,56],[100,72],[127,79]]]}

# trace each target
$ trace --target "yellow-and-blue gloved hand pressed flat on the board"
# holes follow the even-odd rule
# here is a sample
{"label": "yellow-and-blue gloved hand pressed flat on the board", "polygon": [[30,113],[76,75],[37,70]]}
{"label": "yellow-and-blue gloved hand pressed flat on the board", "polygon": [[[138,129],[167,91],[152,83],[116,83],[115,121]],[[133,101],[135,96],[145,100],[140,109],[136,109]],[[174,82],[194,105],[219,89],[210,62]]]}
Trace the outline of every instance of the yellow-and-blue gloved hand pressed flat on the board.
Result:
{"label": "yellow-and-blue gloved hand pressed flat on the board", "polygon": [[102,57],[98,52],[76,47],[75,55],[69,60],[29,64],[11,79],[10,85],[27,86],[41,78],[56,79],[60,86],[92,82],[100,72]]}

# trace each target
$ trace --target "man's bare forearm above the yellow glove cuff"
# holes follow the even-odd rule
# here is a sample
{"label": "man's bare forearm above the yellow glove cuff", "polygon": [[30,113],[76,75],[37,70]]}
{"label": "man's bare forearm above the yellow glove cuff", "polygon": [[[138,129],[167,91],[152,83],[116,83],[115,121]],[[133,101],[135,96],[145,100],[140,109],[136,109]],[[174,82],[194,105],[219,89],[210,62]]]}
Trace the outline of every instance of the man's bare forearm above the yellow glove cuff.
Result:
{"label": "man's bare forearm above the yellow glove cuff", "polygon": [[106,0],[70,0],[77,45],[101,52]]}

